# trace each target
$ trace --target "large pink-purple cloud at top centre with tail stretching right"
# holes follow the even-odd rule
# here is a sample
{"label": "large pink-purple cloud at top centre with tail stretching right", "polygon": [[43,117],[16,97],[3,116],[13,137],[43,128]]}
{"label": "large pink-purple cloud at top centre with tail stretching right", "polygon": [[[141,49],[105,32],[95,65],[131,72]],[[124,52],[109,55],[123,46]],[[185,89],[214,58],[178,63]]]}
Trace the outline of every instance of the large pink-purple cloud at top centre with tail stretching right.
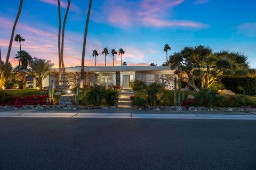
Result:
{"label": "large pink-purple cloud at top centre with tail stretching right", "polygon": [[[168,17],[168,11],[180,5],[185,0],[142,0],[141,2],[117,0],[101,7],[103,16],[95,15],[95,22],[107,22],[116,27],[130,28],[132,26],[159,28],[194,28],[202,29],[209,25],[189,20],[175,20]],[[107,7],[106,7],[107,6]],[[109,6],[111,10],[109,11]],[[136,8],[134,8],[136,6]],[[167,19],[169,18],[169,19]]]}

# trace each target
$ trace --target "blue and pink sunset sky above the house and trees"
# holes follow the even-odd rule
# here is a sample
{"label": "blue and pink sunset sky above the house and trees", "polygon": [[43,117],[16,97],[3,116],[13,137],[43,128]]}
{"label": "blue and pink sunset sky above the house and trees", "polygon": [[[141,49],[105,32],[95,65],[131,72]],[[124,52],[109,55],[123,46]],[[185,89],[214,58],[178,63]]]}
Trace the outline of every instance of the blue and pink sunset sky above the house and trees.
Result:
{"label": "blue and pink sunset sky above the house and trees", "polygon": [[[0,47],[5,60],[19,0],[1,0]],[[66,23],[64,60],[66,66],[81,65],[84,28],[89,0],[71,0]],[[67,0],[61,1],[61,15]],[[123,48],[128,65],[149,65],[165,61],[163,47],[170,54],[185,46],[206,45],[214,52],[222,49],[243,52],[256,67],[255,0],[93,0],[87,36],[85,65],[93,65],[97,49],[98,65],[104,64],[103,47]],[[22,49],[31,56],[51,60],[58,66],[57,0],[24,0],[15,30],[26,39]],[[19,44],[13,42],[10,61]],[[116,57],[116,65],[120,57]],[[107,56],[111,65],[112,56]]]}

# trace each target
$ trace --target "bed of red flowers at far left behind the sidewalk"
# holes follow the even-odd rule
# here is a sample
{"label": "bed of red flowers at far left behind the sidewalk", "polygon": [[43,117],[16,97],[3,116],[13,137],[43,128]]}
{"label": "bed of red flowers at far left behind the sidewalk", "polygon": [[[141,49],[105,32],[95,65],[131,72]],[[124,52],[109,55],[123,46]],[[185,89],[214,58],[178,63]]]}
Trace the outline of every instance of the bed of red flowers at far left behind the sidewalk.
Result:
{"label": "bed of red flowers at far left behind the sidewalk", "polygon": [[7,105],[15,107],[22,107],[25,105],[47,105],[47,95],[17,97],[11,102],[9,102]]}

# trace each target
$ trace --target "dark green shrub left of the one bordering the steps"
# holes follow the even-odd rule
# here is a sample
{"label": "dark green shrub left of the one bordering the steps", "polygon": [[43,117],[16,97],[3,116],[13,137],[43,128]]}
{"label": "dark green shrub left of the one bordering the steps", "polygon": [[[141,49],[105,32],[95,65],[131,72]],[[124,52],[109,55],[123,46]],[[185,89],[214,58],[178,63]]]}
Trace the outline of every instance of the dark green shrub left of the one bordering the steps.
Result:
{"label": "dark green shrub left of the one bordering the steps", "polygon": [[89,87],[85,91],[82,103],[84,105],[92,104],[93,106],[100,106],[102,103],[104,91],[105,88],[101,86],[94,85]]}

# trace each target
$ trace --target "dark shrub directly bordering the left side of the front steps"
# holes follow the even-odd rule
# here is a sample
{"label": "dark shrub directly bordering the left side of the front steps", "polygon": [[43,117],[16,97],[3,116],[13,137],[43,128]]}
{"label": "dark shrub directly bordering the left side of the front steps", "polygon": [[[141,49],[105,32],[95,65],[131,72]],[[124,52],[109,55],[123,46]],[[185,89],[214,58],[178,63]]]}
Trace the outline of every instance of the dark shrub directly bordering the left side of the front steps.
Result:
{"label": "dark shrub directly bordering the left side of the front steps", "polygon": [[114,106],[117,104],[117,101],[119,99],[119,90],[107,89],[103,93],[103,98],[105,99],[108,106]]}

